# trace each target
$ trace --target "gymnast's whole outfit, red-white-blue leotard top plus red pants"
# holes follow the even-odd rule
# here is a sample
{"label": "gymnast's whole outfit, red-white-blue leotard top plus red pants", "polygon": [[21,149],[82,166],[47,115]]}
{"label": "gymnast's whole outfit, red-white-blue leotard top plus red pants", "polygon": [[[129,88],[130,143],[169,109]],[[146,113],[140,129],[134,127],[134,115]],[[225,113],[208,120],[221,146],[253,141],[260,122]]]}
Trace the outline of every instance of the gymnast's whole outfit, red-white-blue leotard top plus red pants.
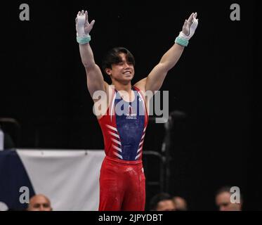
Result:
{"label": "gymnast's whole outfit, red-white-blue leotard top plus red pants", "polygon": [[114,91],[112,103],[98,122],[103,131],[105,160],[100,170],[99,210],[144,210],[145,175],[142,152],[148,113],[140,90],[134,101]]}

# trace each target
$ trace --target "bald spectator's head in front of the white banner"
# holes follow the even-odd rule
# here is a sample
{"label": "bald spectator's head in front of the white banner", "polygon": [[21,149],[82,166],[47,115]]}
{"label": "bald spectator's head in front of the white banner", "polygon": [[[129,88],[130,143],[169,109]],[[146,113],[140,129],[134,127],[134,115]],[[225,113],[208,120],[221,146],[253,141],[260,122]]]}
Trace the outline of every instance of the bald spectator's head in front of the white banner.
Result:
{"label": "bald spectator's head in front of the white banner", "polygon": [[27,211],[52,211],[51,202],[45,195],[34,195],[30,198]]}

